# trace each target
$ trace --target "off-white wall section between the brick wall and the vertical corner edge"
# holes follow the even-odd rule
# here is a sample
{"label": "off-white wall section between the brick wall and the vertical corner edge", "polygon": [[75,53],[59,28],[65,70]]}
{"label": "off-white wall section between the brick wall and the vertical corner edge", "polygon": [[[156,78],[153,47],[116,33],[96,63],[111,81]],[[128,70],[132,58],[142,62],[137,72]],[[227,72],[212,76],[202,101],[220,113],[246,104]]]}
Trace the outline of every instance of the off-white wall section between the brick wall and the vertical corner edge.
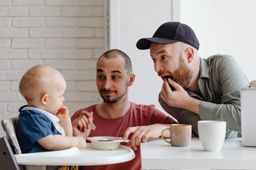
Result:
{"label": "off-white wall section between the brick wall and the vertical corner edge", "polygon": [[172,1],[111,0],[110,5],[110,49],[119,48],[130,56],[136,75],[130,101],[155,104],[163,111],[158,103],[162,80],[154,71],[150,51],[138,50],[136,43],[140,38],[152,37],[162,23],[172,20]]}

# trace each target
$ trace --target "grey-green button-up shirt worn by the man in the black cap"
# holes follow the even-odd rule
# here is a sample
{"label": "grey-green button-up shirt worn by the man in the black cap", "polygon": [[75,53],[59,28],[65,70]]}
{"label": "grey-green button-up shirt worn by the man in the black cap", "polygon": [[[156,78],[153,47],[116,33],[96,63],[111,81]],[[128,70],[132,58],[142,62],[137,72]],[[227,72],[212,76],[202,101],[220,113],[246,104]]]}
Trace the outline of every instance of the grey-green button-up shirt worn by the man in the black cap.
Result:
{"label": "grey-green button-up shirt worn by the man in the black cap", "polygon": [[181,124],[191,124],[198,134],[198,120],[225,120],[226,138],[241,137],[240,90],[249,87],[249,81],[233,57],[214,55],[200,58],[201,94],[186,90],[188,94],[201,100],[199,115],[185,109],[168,106],[160,97],[163,109]]}

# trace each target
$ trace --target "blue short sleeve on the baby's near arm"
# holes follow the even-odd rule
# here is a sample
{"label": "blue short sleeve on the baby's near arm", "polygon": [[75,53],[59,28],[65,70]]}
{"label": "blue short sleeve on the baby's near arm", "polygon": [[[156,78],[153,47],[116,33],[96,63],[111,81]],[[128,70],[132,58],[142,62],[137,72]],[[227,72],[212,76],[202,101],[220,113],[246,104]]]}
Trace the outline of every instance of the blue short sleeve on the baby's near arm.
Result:
{"label": "blue short sleeve on the baby's near arm", "polygon": [[53,135],[50,119],[39,114],[27,115],[24,119],[22,129],[24,135],[31,143],[48,135]]}

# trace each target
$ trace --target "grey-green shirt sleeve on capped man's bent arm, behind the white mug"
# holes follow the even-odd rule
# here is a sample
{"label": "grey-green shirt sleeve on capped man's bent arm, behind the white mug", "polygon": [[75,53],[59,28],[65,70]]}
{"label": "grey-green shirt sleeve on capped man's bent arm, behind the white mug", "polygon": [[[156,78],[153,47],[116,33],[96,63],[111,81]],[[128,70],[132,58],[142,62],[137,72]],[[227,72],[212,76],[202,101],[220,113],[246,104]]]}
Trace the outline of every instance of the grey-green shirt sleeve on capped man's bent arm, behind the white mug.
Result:
{"label": "grey-green shirt sleeve on capped man's bent arm, behind the white mug", "polygon": [[217,70],[222,94],[221,102],[219,104],[201,102],[200,118],[202,120],[225,120],[227,130],[241,132],[240,90],[247,88],[249,82],[243,70],[232,57],[221,58]]}

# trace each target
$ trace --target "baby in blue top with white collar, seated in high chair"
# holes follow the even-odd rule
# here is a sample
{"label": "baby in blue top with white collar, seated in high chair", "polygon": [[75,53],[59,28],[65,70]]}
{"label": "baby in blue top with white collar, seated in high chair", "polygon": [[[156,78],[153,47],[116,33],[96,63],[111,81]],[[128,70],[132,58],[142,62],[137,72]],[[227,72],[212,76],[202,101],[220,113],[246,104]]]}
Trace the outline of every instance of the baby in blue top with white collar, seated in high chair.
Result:
{"label": "baby in blue top with white collar, seated in high chair", "polygon": [[36,65],[24,74],[19,91],[28,105],[19,108],[16,128],[22,153],[86,147],[82,136],[73,137],[65,90],[65,79],[52,67]]}

